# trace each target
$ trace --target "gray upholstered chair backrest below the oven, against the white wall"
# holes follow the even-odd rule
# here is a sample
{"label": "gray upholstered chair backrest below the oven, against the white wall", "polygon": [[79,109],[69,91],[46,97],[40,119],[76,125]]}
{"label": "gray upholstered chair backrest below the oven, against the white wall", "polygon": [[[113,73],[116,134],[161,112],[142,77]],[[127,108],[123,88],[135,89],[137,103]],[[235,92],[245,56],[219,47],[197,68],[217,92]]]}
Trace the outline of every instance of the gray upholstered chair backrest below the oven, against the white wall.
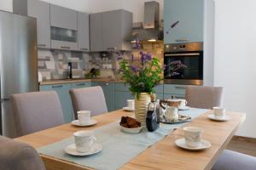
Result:
{"label": "gray upholstered chair backrest below the oven, against the white wall", "polygon": [[186,89],[188,105],[195,108],[212,109],[222,105],[223,88],[189,86]]}

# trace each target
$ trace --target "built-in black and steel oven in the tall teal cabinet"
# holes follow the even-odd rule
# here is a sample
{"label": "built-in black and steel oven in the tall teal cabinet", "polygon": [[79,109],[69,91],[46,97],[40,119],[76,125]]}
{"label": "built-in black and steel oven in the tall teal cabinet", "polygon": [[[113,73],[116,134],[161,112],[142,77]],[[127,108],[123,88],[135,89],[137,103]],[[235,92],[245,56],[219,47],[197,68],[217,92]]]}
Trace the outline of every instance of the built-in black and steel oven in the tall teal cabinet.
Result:
{"label": "built-in black and steel oven in the tall teal cabinet", "polygon": [[164,82],[202,85],[203,42],[165,44]]}

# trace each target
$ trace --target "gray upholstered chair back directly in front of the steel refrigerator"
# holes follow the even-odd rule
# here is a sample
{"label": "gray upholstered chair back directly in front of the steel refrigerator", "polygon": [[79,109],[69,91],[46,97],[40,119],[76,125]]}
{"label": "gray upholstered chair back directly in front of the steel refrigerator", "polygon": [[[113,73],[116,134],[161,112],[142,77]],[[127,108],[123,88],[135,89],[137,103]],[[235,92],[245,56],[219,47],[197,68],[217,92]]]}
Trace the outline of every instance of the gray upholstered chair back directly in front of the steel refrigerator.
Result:
{"label": "gray upholstered chair back directly in front of the steel refrigerator", "polygon": [[61,102],[54,91],[11,95],[18,136],[64,123]]}

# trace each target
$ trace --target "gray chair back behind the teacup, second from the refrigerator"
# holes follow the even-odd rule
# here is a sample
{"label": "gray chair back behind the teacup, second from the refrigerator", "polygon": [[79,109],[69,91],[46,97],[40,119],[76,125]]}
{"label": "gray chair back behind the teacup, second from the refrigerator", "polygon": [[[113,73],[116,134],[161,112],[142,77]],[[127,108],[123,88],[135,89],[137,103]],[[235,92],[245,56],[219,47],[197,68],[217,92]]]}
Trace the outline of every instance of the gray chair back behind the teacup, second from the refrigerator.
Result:
{"label": "gray chair back behind the teacup, second from the refrigerator", "polygon": [[105,96],[100,86],[71,89],[69,94],[76,119],[78,118],[77,111],[91,111],[91,116],[108,112]]}

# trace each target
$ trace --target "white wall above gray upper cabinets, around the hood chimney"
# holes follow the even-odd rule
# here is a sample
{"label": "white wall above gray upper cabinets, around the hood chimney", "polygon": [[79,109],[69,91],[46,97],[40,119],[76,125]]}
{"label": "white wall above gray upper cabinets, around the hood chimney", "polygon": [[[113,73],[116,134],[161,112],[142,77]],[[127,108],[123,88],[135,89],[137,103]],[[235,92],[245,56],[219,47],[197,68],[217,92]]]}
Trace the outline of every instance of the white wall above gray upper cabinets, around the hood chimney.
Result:
{"label": "white wall above gray upper cabinets, around the hood chimney", "polygon": [[[63,7],[73,8],[86,13],[97,13],[102,11],[124,8],[133,13],[133,21],[144,20],[144,2],[151,0],[42,0]],[[160,19],[163,19],[164,0],[154,0],[160,3]]]}

